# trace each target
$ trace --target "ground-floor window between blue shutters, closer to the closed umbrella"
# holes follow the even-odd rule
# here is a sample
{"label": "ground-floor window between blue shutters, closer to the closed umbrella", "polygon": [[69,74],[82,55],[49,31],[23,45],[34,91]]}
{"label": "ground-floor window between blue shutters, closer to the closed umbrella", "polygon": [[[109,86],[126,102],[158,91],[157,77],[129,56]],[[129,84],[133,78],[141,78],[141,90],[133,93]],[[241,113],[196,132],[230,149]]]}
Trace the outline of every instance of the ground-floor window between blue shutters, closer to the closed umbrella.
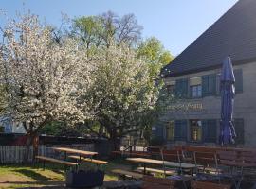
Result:
{"label": "ground-floor window between blue shutters, closer to the closed umbrella", "polygon": [[202,121],[190,120],[191,128],[191,141],[200,142],[202,141]]}

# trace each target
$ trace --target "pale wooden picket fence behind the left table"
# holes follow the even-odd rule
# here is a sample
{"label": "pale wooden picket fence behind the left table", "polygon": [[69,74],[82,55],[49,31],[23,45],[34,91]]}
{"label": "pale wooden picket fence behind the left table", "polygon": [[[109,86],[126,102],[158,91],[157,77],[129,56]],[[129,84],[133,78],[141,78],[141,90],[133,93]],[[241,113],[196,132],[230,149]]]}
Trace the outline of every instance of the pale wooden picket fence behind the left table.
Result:
{"label": "pale wooden picket fence behind the left table", "polygon": [[[55,151],[52,147],[61,147],[61,146],[45,146],[41,145],[38,149],[38,154],[47,157],[54,158],[64,158],[64,153]],[[71,147],[81,150],[94,151],[94,144],[84,144],[84,145],[62,145],[62,147]],[[0,146],[0,163],[22,163],[26,146]],[[32,161],[32,146],[30,147],[30,153],[28,161]]]}

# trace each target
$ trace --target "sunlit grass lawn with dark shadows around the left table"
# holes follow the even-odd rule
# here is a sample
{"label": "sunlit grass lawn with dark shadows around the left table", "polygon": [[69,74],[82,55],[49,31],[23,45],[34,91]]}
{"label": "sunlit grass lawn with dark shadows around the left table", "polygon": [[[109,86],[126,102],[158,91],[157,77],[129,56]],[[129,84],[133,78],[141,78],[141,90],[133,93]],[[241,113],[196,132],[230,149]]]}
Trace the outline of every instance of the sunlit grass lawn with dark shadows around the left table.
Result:
{"label": "sunlit grass lawn with dark shadows around the left table", "polygon": [[[0,188],[28,188],[28,187],[62,187],[64,186],[64,166],[46,163],[36,167],[23,164],[0,165]],[[105,181],[118,180],[110,170],[114,168],[129,168],[123,163],[110,162],[104,168]]]}

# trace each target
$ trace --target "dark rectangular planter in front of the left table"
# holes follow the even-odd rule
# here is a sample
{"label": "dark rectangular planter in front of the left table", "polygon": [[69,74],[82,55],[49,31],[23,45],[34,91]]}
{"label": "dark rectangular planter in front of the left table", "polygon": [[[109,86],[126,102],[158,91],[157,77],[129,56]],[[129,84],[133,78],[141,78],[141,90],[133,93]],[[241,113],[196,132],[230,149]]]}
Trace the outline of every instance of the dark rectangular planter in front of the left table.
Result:
{"label": "dark rectangular planter in front of the left table", "polygon": [[104,172],[97,171],[83,171],[79,170],[68,171],[65,176],[65,183],[67,187],[82,188],[101,186],[104,180]]}

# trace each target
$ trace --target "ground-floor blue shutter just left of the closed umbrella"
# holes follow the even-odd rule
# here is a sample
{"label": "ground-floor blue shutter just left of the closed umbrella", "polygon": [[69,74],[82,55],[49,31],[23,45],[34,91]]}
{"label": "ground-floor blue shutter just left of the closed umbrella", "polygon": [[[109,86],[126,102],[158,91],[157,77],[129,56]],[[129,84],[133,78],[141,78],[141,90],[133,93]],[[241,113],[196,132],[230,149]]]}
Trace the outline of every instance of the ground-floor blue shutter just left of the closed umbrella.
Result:
{"label": "ground-floor blue shutter just left of the closed umbrella", "polygon": [[203,120],[203,139],[206,143],[216,143],[217,141],[217,121],[215,119]]}

